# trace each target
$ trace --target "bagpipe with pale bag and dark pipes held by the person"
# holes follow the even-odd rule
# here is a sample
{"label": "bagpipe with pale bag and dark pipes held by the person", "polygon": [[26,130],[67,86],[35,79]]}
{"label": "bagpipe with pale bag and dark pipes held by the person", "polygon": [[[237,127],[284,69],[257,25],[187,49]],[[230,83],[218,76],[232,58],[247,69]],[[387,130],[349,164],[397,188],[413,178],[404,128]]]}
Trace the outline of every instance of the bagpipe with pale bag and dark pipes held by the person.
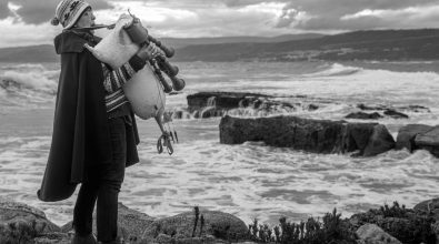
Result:
{"label": "bagpipe with pale bag and dark pipes held by the person", "polygon": [[[122,89],[136,115],[143,120],[156,119],[162,133],[157,142],[158,152],[162,153],[163,148],[167,148],[168,153],[172,154],[171,141],[178,142],[178,135],[176,130],[171,130],[170,114],[164,113],[166,93],[181,91],[186,85],[184,80],[177,77],[178,67],[168,61],[173,57],[174,50],[151,37],[141,24],[140,19],[131,13],[122,14],[114,24],[96,24],[81,29],[101,28],[110,29],[111,32],[89,50],[98,60],[109,64],[112,69],[123,65],[143,45],[154,43],[160,49],[160,53],[157,55],[148,57],[149,65],[138,71]],[[163,73],[171,83],[167,81]]]}

